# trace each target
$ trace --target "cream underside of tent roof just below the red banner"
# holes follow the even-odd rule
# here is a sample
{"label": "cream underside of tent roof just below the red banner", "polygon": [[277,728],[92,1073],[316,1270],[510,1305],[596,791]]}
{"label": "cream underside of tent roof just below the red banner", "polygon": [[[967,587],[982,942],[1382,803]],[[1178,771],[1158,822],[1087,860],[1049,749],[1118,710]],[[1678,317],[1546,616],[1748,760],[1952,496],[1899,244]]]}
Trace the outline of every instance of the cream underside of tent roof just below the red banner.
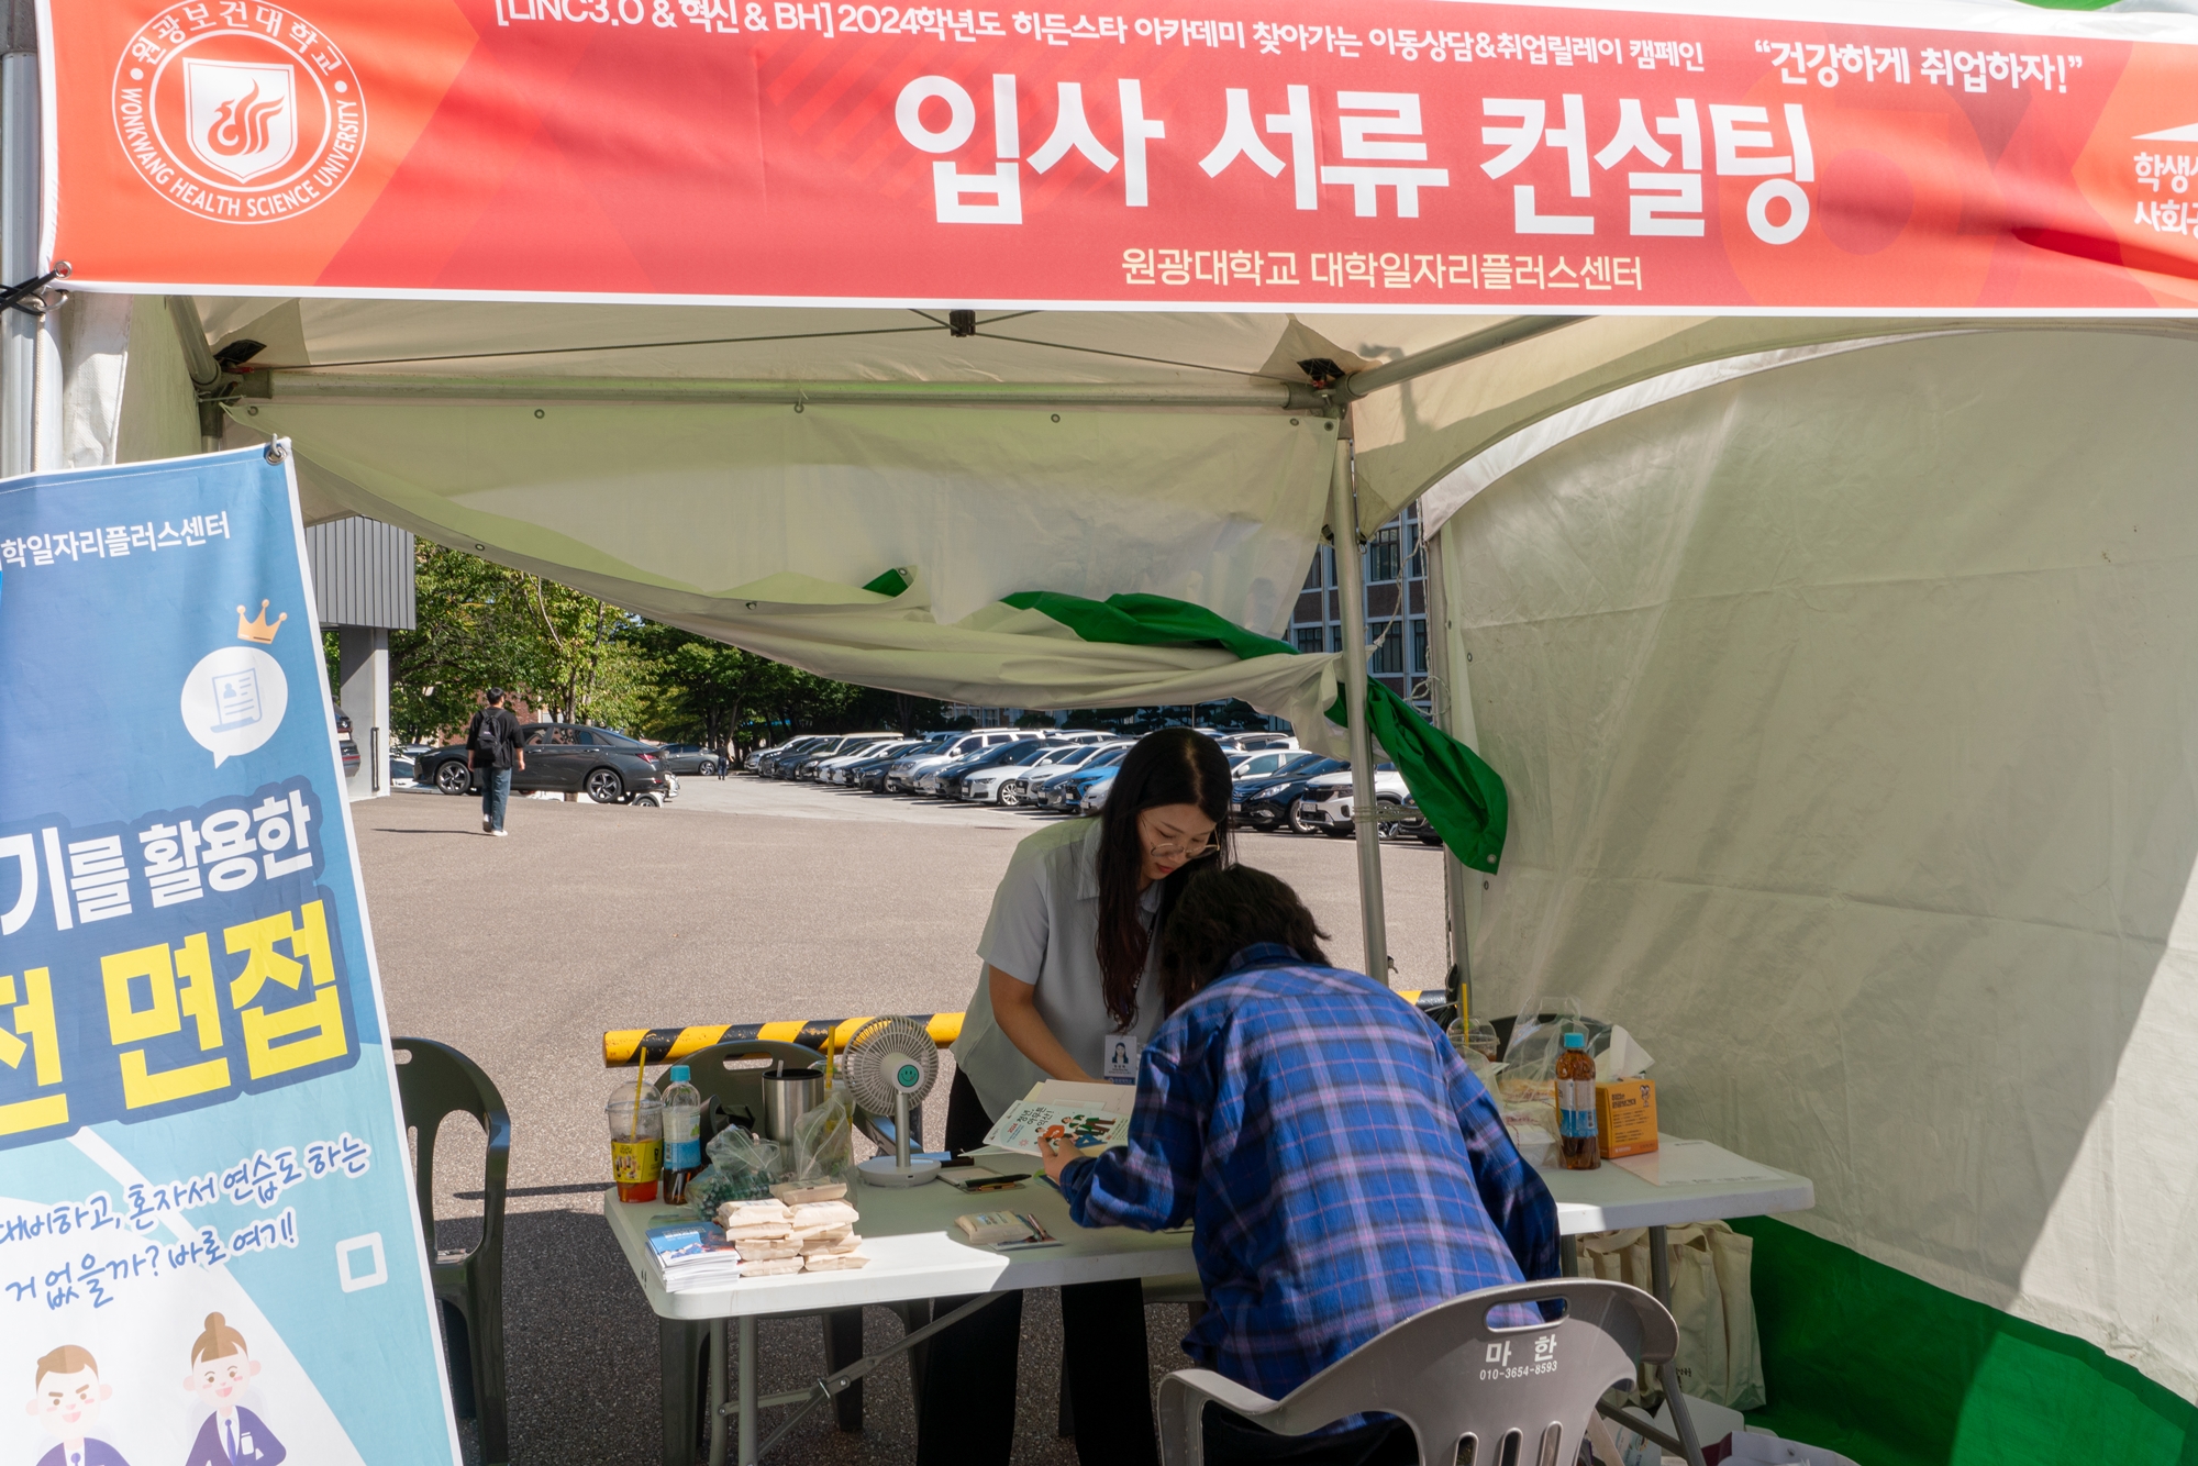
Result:
{"label": "cream underside of tent roof just below the red banner", "polygon": [[[1521,316],[945,312],[497,301],[202,299],[215,349],[259,341],[244,393],[275,404],[567,402],[712,413],[778,400],[888,407],[895,391],[965,389],[967,404],[1317,411],[1297,363],[1380,367]],[[1387,521],[1512,433],[1609,391],[1739,356],[1835,341],[2035,321],[1901,316],[1587,316],[1440,367],[1352,404],[1361,523]],[[2132,330],[2180,332],[2174,321]],[[769,391],[778,387],[782,391]],[[877,389],[862,396],[859,389]],[[851,396],[853,393],[853,396]],[[914,407],[917,402],[910,402]],[[923,404],[932,404],[928,398]],[[462,411],[462,409],[459,409]],[[266,429],[262,413],[244,426]],[[314,442],[299,429],[308,464]],[[1134,462],[1119,466],[1134,475]],[[310,470],[308,470],[308,477]],[[317,481],[321,517],[378,514],[358,486]],[[404,523],[409,514],[398,514]],[[415,530],[457,543],[433,523]],[[486,543],[486,541],[468,541]],[[789,567],[815,574],[818,567]],[[1051,587],[1112,593],[1119,585]],[[1147,587],[1198,600],[1194,587]],[[1222,607],[1215,607],[1222,609]]]}

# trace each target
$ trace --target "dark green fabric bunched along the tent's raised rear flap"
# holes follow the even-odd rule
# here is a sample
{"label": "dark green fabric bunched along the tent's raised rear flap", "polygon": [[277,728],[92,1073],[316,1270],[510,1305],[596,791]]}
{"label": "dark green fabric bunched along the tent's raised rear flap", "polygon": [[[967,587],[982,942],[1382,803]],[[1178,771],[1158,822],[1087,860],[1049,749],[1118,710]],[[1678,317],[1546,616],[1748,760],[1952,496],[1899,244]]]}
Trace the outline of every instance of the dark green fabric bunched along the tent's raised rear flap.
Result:
{"label": "dark green fabric bunched along the tent's raised rear flap", "polygon": [[[1002,600],[1020,611],[1051,615],[1086,642],[1220,646],[1242,659],[1297,655],[1288,642],[1246,631],[1205,607],[1167,596],[1108,596],[1101,602],[1055,591],[1018,591]],[[1350,725],[1341,697],[1328,710],[1328,719]],[[1495,870],[1510,824],[1510,796],[1497,771],[1470,747],[1420,717],[1418,708],[1372,679],[1367,732],[1396,763],[1405,787],[1420,800],[1420,813],[1442,835],[1442,844],[1475,870]]]}

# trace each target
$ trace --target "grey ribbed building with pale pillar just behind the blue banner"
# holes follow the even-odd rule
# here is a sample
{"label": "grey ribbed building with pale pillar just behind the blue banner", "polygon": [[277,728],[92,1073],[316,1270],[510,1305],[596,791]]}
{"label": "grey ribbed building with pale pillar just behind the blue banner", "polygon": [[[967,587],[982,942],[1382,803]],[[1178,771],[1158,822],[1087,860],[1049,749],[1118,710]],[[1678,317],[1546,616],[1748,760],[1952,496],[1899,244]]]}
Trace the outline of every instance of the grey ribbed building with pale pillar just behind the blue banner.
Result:
{"label": "grey ribbed building with pale pillar just behind the blue banner", "polygon": [[413,536],[376,519],[306,525],[306,560],[321,626],[336,633],[336,706],[352,719],[358,774],[352,800],[389,793],[389,633],[411,631]]}

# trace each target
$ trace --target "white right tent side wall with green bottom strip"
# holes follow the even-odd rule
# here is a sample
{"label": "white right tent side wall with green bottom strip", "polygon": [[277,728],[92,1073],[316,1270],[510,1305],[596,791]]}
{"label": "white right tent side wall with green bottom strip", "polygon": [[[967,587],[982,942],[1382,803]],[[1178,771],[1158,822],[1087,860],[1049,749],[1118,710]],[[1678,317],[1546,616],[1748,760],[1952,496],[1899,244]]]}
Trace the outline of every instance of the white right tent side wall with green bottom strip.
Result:
{"label": "white right tent side wall with green bottom strip", "polygon": [[1756,1229],[1769,1418],[1870,1462],[2198,1451],[2194,374],[2108,327],[1855,349],[1442,532],[1512,793],[1477,1007],[1578,993],[1668,1130],[1816,1180]]}

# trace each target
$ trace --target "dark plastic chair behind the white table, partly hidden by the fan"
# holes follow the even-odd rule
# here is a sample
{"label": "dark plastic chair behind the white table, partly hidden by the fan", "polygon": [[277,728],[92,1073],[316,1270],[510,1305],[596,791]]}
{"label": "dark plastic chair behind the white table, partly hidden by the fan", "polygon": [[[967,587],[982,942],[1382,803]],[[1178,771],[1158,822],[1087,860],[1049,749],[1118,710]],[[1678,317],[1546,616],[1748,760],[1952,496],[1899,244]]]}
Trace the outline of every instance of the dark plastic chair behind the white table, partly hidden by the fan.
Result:
{"label": "dark plastic chair behind the white table, partly hidden by the fan", "polygon": [[[710,1134],[736,1114],[747,1114],[758,1128],[763,1125],[765,1070],[730,1068],[739,1059],[778,1059],[789,1068],[824,1066],[824,1055],[815,1048],[763,1037],[712,1044],[690,1053],[679,1064],[688,1066],[690,1081],[701,1090]],[[668,1066],[655,1079],[655,1088],[662,1092],[666,1084],[670,1084]],[[855,1119],[862,1123],[866,1117],[857,1112]],[[910,1119],[914,1121],[910,1130],[921,1136],[921,1117]],[[833,1308],[820,1312],[818,1321],[824,1325],[826,1374],[862,1358],[859,1308]],[[706,1431],[701,1415],[703,1402],[710,1398],[710,1369],[725,1367],[725,1361],[710,1358],[710,1325],[690,1319],[657,1319],[657,1367],[664,1398],[664,1466],[692,1466]],[[833,1411],[842,1431],[862,1429],[862,1380],[833,1396]]]}

